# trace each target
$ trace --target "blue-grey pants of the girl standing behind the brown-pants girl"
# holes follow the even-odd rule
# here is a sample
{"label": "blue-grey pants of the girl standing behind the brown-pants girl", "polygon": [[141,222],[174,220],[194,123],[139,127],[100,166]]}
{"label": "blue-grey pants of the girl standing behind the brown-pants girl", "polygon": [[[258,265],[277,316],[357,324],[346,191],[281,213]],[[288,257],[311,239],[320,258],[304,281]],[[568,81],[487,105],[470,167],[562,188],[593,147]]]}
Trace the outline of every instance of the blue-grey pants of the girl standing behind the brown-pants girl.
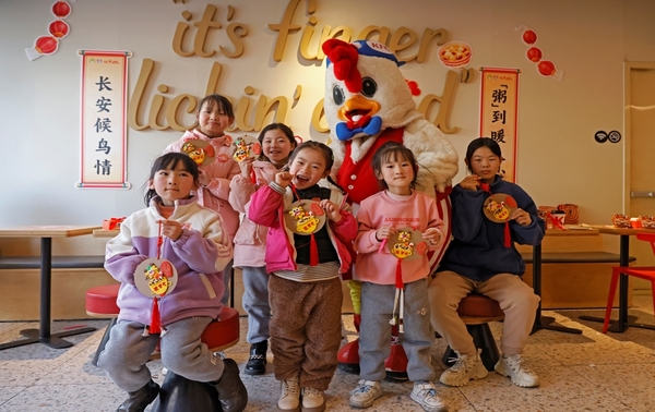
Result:
{"label": "blue-grey pants of the girl standing behind the brown-pants girl", "polygon": [[269,340],[271,306],[269,305],[269,274],[266,267],[241,267],[243,278],[243,310],[248,314],[248,335],[250,343]]}

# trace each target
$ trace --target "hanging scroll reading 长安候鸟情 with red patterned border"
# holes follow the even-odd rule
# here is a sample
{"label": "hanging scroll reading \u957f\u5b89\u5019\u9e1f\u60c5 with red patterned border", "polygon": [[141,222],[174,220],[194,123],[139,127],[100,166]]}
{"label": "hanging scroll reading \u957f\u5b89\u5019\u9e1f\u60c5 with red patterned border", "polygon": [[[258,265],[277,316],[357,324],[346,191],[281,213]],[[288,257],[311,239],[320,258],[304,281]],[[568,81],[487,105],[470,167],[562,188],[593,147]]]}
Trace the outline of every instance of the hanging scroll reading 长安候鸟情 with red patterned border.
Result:
{"label": "hanging scroll reading \u957f\u5b89\u5019\u9e1f\u60c5 with red patterned border", "polygon": [[127,177],[128,59],[131,51],[80,50],[83,189],[130,189]]}

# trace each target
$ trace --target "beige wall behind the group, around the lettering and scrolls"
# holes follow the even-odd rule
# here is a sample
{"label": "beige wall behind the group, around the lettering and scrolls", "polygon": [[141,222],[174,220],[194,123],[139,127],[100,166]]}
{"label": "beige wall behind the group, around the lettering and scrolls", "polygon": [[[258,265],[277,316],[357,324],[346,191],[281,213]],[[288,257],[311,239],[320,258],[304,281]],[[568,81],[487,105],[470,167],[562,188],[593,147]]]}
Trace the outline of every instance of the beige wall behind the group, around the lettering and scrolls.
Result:
{"label": "beige wall behind the group, around the lettering and scrolls", "polygon": [[[0,2],[0,141],[2,194],[0,226],[21,223],[98,223],[103,218],[124,216],[142,207],[141,187],[150,162],[177,131],[129,130],[128,180],[133,189],[79,190],[80,169],[80,57],[79,49],[131,50],[130,95],[144,59],[156,62],[148,101],[156,86],[167,84],[170,99],[182,93],[202,97],[214,62],[223,65],[217,92],[235,99],[286,96],[293,101],[296,86],[302,95],[287,119],[300,135],[325,140],[310,130],[312,109],[323,96],[324,65],[298,54],[301,33],[289,35],[281,62],[273,60],[276,33],[267,25],[279,23],[288,0],[228,2],[216,0],[215,17],[223,27],[242,23],[248,27],[245,52],[239,59],[221,53],[214,58],[182,58],[172,51],[178,23],[202,15],[205,1],[188,0],[84,0],[70,2],[67,19],[71,33],[59,50],[35,61],[24,49],[46,35],[55,19],[52,0]],[[517,181],[540,205],[575,203],[585,222],[608,223],[621,211],[622,142],[597,144],[597,130],[623,132],[623,62],[655,61],[655,2],[640,0],[534,2],[524,0],[407,1],[301,1],[294,23],[307,27],[307,4],[315,4],[317,29],[346,25],[359,32],[367,25],[402,26],[421,34],[443,28],[450,39],[474,48],[469,68],[479,65],[523,69],[520,96]],[[227,22],[227,7],[235,8]],[[401,10],[402,8],[402,10]],[[401,12],[402,11],[402,12]],[[525,45],[515,27],[524,24],[539,36],[545,56],[564,72],[561,82],[540,76],[525,57]],[[188,41],[188,47],[192,38]],[[225,31],[216,31],[207,46],[228,46]],[[403,73],[418,81],[424,93],[441,94],[445,68],[436,48],[422,64],[409,63]],[[461,128],[450,135],[460,153],[477,136],[479,78],[460,84],[450,124]],[[142,118],[144,114],[142,114]],[[237,132],[238,133],[238,132]],[[254,133],[251,133],[254,134]],[[464,168],[455,182],[464,175]]]}

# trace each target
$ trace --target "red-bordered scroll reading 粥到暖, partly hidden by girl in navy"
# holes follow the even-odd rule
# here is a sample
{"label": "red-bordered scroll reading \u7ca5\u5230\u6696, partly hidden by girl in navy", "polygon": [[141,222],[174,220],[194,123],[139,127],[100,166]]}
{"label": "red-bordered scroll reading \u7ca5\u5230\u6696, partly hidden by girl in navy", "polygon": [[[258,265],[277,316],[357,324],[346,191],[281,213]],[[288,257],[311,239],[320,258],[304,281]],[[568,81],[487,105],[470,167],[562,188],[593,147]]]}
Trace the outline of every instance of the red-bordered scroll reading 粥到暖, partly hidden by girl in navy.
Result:
{"label": "red-bordered scroll reading \u7ca5\u5230\u6696, partly hidden by girl in navy", "polygon": [[521,69],[479,68],[480,136],[500,145],[501,174],[516,181],[516,141],[519,122],[519,75]]}

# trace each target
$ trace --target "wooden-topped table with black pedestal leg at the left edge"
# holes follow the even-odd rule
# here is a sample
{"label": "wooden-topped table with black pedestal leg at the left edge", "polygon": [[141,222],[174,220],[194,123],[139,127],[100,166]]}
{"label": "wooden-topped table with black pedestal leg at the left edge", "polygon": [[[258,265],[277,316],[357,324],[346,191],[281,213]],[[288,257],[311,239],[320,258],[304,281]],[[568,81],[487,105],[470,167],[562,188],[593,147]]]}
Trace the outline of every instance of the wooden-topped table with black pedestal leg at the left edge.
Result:
{"label": "wooden-topped table with black pedestal leg at the left edge", "polygon": [[21,335],[27,339],[0,344],[0,350],[40,342],[50,348],[62,349],[73,343],[60,339],[96,330],[92,327],[50,334],[50,303],[52,286],[52,238],[71,238],[91,234],[98,226],[25,226],[0,228],[0,238],[40,238],[40,314],[38,329],[24,329]]}

